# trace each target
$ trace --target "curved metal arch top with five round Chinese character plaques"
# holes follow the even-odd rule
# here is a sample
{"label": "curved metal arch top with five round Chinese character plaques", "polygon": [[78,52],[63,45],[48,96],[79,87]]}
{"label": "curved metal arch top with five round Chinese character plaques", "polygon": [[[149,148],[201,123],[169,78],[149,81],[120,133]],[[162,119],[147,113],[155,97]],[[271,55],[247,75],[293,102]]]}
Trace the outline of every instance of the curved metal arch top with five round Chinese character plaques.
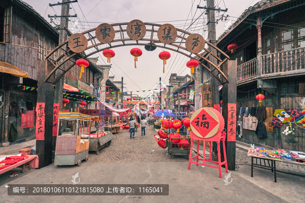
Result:
{"label": "curved metal arch top with five round Chinese character plaques", "polygon": [[[96,28],[74,33],[69,40],[60,44],[46,56],[46,60],[53,65],[53,68],[47,69],[50,71],[47,73],[45,82],[56,83],[62,78],[75,62],[70,63],[65,69],[62,67],[63,64],[67,61],[74,61],[74,57],[79,53],[84,55],[83,58],[87,58],[105,49],[149,44],[175,51],[191,59],[197,59],[221,84],[228,82],[227,76],[221,71],[220,66],[229,59],[229,56],[215,45],[205,41],[201,35],[175,28],[171,24],[143,23],[140,20],[132,20],[129,23],[102,23]],[[208,50],[205,45],[210,46],[211,49]],[[63,50],[64,53],[55,57],[58,50]],[[85,53],[86,50],[88,53]],[[217,50],[217,54],[214,54],[213,50]],[[203,53],[199,54],[201,52]],[[212,63],[211,58],[215,58],[217,63]],[[208,62],[212,69],[204,61]],[[58,69],[62,70],[62,74],[55,80],[51,80]]]}

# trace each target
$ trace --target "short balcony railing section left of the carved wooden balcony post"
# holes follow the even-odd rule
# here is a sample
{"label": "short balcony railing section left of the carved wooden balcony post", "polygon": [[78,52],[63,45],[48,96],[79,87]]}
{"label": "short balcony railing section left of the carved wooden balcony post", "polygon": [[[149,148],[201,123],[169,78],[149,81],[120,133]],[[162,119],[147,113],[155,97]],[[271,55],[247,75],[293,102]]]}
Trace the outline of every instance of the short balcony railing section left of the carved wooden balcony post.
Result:
{"label": "short balcony railing section left of the carved wooden balcony post", "polygon": [[257,58],[237,66],[237,82],[257,76]]}

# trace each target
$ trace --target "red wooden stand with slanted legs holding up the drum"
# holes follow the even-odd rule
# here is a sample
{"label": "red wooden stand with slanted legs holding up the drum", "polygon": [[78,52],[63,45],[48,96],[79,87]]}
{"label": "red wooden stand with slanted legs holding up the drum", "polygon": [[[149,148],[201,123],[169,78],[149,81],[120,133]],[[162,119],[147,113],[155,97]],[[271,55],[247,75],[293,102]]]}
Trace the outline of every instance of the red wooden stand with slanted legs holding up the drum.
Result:
{"label": "red wooden stand with slanted legs holding up the drum", "polygon": [[[226,173],[228,173],[228,164],[227,164],[227,155],[226,155],[226,146],[225,146],[225,139],[226,139],[226,132],[218,132],[215,136],[211,138],[199,138],[194,134],[193,131],[190,132],[191,135],[191,150],[190,150],[190,158],[189,158],[189,170],[191,169],[191,163],[196,163],[196,165],[204,165],[204,166],[209,166],[209,167],[214,167],[214,168],[219,168],[219,178],[222,178],[222,173],[221,173],[221,166],[225,164],[226,167]],[[197,155],[192,157],[192,149],[193,149],[193,140],[197,140]],[[203,158],[199,158],[199,141],[202,140],[203,142]],[[205,141],[209,142],[210,146],[210,159],[207,160],[205,159]],[[221,153],[220,153],[220,142],[222,141],[223,143],[223,150],[224,150],[224,158],[225,160],[221,162]],[[211,142],[217,142],[217,152],[218,152],[218,161],[212,161],[212,153],[211,153]],[[196,162],[192,161],[193,158],[196,158]],[[199,160],[202,160],[203,163],[199,163]],[[212,163],[218,163],[218,166],[215,165],[208,165],[205,164],[205,161],[212,162]]]}

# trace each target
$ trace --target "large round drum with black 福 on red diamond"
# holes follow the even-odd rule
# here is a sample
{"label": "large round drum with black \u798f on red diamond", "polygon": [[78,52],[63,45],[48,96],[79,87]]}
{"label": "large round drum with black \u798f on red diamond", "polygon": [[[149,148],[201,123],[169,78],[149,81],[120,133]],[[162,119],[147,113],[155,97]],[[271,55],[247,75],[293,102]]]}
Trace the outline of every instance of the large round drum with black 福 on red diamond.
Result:
{"label": "large round drum with black \u798f on red diamond", "polygon": [[225,127],[224,117],[219,111],[203,107],[195,111],[191,117],[191,129],[199,138],[211,138]]}

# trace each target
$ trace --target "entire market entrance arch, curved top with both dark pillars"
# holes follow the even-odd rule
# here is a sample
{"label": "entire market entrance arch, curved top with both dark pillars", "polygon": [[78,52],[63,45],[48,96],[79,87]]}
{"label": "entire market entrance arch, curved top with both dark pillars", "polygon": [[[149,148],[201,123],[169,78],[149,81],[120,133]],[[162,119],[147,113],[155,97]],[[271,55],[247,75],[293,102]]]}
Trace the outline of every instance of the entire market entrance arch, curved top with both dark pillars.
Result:
{"label": "entire market entrance arch, curved top with both dark pillars", "polygon": [[[36,139],[39,167],[52,163],[54,84],[75,65],[78,58],[87,58],[105,49],[139,45],[148,46],[151,50],[157,47],[171,50],[198,60],[199,64],[223,85],[223,116],[225,128],[228,128],[229,104],[235,104],[236,111],[236,61],[230,61],[226,53],[204,40],[202,36],[170,24],[143,23],[140,20],[129,23],[103,23],[96,28],[73,34],[69,40],[46,56],[45,69],[38,71],[37,103],[42,103],[45,107],[44,133]],[[231,152],[227,153],[229,170],[235,170],[234,133],[233,137],[228,140],[226,147],[227,151]]]}

